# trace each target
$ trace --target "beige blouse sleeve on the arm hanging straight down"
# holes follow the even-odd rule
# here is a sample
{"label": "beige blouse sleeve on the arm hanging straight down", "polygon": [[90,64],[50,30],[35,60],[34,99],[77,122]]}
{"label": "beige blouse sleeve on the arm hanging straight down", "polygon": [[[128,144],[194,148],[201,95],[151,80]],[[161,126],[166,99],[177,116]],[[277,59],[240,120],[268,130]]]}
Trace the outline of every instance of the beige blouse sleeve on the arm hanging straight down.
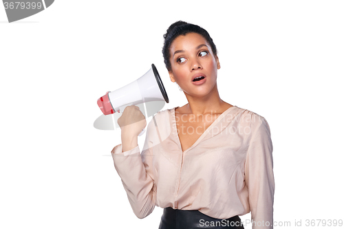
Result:
{"label": "beige blouse sleeve on the arm hanging straight down", "polygon": [[272,171],[272,141],[265,118],[252,116],[250,144],[246,155],[245,184],[253,229],[273,228],[275,179]]}

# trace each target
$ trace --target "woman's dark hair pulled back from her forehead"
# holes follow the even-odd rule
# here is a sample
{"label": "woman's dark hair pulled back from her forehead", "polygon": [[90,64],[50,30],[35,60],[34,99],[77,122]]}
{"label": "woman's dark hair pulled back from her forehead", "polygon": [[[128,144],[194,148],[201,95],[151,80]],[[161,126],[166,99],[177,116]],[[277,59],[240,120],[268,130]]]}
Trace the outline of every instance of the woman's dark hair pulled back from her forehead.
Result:
{"label": "woman's dark hair pulled back from her forehead", "polygon": [[206,41],[211,45],[211,51],[214,55],[217,55],[216,46],[211,39],[211,36],[208,34],[204,28],[201,28],[198,25],[193,25],[191,23],[187,23],[185,21],[177,21],[170,25],[170,27],[166,30],[166,34],[164,34],[164,47],[162,47],[162,55],[164,56],[164,63],[166,65],[166,69],[170,72],[171,71],[171,55],[170,55],[170,47],[171,43],[180,35],[186,35],[191,32],[195,32],[200,34],[201,36],[206,39]]}

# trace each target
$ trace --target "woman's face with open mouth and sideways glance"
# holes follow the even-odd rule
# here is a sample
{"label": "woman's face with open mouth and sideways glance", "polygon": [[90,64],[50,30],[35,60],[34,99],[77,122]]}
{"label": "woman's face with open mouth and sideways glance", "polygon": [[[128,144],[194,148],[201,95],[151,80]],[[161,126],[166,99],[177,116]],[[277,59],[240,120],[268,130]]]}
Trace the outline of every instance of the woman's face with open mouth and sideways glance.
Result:
{"label": "woman's face with open mouth and sideways glance", "polygon": [[219,60],[202,35],[189,33],[178,36],[171,44],[170,54],[169,76],[186,94],[202,97],[214,89]]}

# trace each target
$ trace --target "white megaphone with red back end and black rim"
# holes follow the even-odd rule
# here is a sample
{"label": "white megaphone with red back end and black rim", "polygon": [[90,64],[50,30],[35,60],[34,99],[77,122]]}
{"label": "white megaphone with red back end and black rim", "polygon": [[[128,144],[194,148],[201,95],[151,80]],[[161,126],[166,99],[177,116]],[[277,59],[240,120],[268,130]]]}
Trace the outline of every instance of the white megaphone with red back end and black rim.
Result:
{"label": "white megaphone with red back end and black rim", "polygon": [[[154,64],[151,65],[151,69],[146,74],[132,83],[115,91],[107,91],[105,96],[98,98],[97,104],[104,115],[107,116],[111,113],[120,112],[120,107],[124,105],[138,105],[150,101],[169,103],[169,97]],[[144,133],[144,130],[140,135],[142,133]]]}

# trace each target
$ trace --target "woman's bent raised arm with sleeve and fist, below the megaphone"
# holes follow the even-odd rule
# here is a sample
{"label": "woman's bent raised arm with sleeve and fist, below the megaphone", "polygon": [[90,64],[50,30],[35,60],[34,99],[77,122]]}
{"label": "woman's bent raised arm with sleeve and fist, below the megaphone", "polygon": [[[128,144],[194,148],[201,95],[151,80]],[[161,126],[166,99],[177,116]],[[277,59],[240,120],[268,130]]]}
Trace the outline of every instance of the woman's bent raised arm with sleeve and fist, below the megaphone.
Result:
{"label": "woman's bent raised arm with sleeve and fist, below the megaphone", "polygon": [[[145,119],[142,120],[143,115],[140,110],[138,109],[137,111],[135,107],[126,108],[127,111],[131,111],[129,114],[130,118],[118,120],[118,124],[122,124],[122,144],[115,146],[111,151],[111,155],[114,159],[116,171],[120,175],[122,184],[127,192],[131,208],[135,215],[142,219],[153,212],[156,193],[153,190],[153,157],[148,144],[151,123],[149,123],[147,128],[144,148],[142,153],[140,153],[138,134],[145,127],[146,122]],[[127,113],[124,111],[123,115]],[[132,120],[135,119],[140,120],[139,122],[141,123],[133,122]],[[133,123],[129,124],[129,122]],[[134,125],[135,127],[133,127]]]}

